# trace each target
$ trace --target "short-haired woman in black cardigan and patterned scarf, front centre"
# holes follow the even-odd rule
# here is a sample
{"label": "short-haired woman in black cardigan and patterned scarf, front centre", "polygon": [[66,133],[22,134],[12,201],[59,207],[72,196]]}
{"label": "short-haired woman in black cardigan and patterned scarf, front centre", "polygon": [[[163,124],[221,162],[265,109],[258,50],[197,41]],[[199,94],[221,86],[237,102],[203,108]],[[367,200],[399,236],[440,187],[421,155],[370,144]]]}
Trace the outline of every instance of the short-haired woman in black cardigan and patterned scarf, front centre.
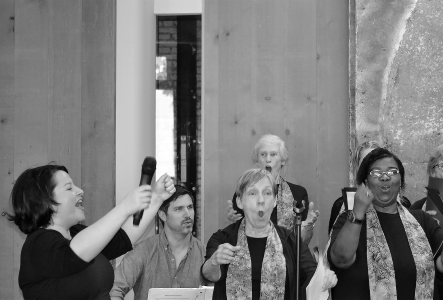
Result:
{"label": "short-haired woman in black cardigan and patterned scarf, front centre", "polygon": [[[263,169],[246,171],[238,180],[236,203],[245,217],[214,233],[206,247],[203,276],[215,282],[213,299],[295,299],[296,237],[270,221],[277,186]],[[304,297],[316,263],[300,245],[300,286]],[[336,277],[330,270],[323,287]]]}

